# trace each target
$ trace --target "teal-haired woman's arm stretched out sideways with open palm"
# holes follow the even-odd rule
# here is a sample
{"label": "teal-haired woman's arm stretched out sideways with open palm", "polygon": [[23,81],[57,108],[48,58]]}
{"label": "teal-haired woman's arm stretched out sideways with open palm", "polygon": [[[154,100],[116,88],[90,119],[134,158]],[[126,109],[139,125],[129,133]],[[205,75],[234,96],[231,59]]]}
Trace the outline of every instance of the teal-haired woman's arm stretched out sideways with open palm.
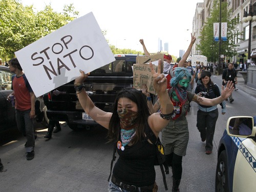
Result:
{"label": "teal-haired woman's arm stretched out sideways with open palm", "polygon": [[207,99],[207,98],[202,98],[197,94],[194,94],[194,98],[192,101],[201,104],[201,105],[206,105],[206,106],[215,106],[223,102],[225,99],[227,99],[232,91],[234,90],[233,87],[234,84],[232,84],[232,81],[227,82],[227,86],[224,89],[224,86],[222,85],[221,89],[221,96],[215,99]]}

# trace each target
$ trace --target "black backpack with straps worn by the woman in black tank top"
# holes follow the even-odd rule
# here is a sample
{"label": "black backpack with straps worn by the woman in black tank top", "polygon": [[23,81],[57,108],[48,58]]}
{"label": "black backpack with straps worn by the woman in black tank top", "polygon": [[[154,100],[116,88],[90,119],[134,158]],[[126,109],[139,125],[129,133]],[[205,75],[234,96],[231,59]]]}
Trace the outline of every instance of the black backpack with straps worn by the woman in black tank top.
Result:
{"label": "black backpack with straps worn by the woman in black tank top", "polygon": [[[168,190],[165,173],[169,174],[169,167],[168,167],[168,164],[165,160],[166,158],[165,158],[165,154],[164,154],[164,147],[163,147],[159,137],[156,137],[156,135],[153,133],[151,128],[148,127],[148,125],[145,126],[144,132],[146,134],[146,137],[142,142],[145,142],[147,139],[149,139],[156,146],[157,155],[156,155],[156,158],[155,158],[154,165],[160,165],[160,169],[161,169],[161,172],[162,172],[162,175],[163,175],[164,187],[165,187],[165,190]],[[114,152],[113,152],[113,158],[111,160],[110,176],[109,176],[108,181],[110,181],[110,177],[111,177],[111,174],[112,174],[113,162],[116,160],[116,156],[115,156],[116,146],[117,146],[117,142],[114,143]],[[164,171],[164,169],[165,169],[165,171]]]}

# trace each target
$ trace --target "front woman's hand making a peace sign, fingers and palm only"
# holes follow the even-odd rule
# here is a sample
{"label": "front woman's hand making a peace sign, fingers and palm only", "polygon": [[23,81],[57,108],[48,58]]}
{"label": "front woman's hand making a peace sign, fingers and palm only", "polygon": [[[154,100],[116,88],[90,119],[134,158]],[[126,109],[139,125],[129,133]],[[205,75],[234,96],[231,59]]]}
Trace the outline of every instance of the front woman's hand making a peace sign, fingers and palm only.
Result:
{"label": "front woman's hand making a peace sign, fingers and palm only", "polygon": [[161,65],[162,65],[162,60],[159,59],[158,60],[158,67],[157,67],[157,73],[155,71],[155,69],[153,68],[153,64],[152,62],[150,62],[150,69],[151,69],[151,73],[153,75],[153,86],[157,92],[157,94],[159,93],[165,93],[166,92],[166,87],[167,87],[167,79],[166,77],[164,77],[163,74],[161,74]]}

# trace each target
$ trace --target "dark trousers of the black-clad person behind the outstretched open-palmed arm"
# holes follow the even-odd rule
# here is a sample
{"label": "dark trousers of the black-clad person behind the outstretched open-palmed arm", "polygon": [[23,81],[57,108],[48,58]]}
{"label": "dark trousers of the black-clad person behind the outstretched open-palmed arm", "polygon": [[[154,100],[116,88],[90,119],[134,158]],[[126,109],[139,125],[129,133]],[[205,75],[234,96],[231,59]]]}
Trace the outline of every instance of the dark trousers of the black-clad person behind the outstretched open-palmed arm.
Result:
{"label": "dark trousers of the black-clad person behind the outstretched open-palmed arm", "polygon": [[209,112],[197,111],[197,129],[201,134],[201,138],[206,138],[206,151],[212,151],[212,141],[214,140],[214,132],[216,122],[219,116],[218,108]]}

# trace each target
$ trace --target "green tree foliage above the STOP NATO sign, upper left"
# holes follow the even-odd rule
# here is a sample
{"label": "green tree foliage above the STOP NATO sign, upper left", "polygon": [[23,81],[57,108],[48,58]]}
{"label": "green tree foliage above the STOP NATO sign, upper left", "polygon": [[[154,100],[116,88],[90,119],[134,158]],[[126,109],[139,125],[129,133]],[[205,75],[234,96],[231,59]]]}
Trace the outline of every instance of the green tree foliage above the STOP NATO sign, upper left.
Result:
{"label": "green tree foliage above the STOP NATO sign, upper left", "polygon": [[14,57],[14,52],[66,25],[78,16],[73,5],[63,13],[54,12],[50,5],[34,12],[33,6],[23,6],[18,0],[0,0],[0,55]]}

